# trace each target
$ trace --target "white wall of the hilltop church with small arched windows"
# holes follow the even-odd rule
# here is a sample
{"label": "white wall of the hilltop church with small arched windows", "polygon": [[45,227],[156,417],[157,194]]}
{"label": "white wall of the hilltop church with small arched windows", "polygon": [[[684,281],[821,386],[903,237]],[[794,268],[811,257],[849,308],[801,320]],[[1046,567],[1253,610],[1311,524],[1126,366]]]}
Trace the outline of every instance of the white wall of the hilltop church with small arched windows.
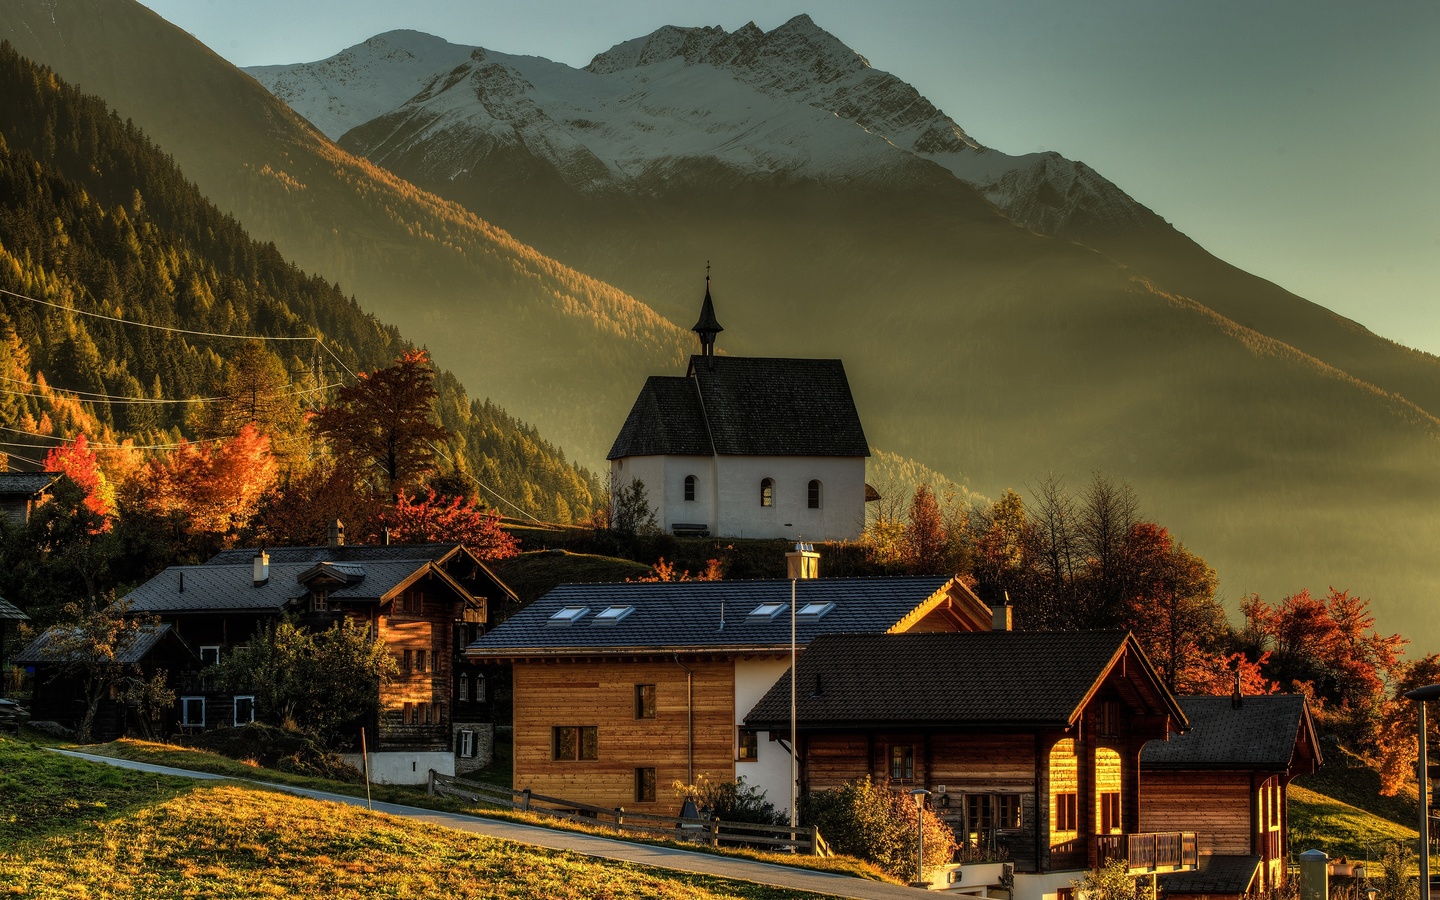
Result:
{"label": "white wall of the hilltop church with small arched windows", "polygon": [[[685,500],[685,475],[696,498]],[[616,487],[645,482],[655,518],[704,524],[716,537],[855,540],[865,523],[865,461],[861,456],[628,456],[611,462]],[[775,480],[775,505],[760,505],[760,481]],[[821,505],[809,508],[809,482],[821,482]]]}

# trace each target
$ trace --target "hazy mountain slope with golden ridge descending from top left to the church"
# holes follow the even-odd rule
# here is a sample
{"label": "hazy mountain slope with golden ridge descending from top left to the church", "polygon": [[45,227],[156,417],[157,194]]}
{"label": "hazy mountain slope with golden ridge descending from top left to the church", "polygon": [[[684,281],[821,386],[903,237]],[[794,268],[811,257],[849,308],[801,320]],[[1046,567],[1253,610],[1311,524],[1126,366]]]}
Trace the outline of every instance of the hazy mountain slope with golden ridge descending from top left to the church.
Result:
{"label": "hazy mountain slope with golden ridge descending from top left to the church", "polygon": [[628,403],[593,384],[675,369],[688,351],[644,304],[340,151],[131,0],[13,0],[0,36],[144,128],[258,239],[583,458],[602,455]]}

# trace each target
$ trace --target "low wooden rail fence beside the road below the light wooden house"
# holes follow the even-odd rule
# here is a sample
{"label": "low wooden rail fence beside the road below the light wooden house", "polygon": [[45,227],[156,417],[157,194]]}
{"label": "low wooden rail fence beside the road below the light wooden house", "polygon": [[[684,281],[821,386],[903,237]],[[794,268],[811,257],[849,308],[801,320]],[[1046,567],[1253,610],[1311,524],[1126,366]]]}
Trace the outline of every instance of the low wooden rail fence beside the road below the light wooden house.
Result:
{"label": "low wooden rail fence beside the road below the light wooden house", "polygon": [[825,845],[825,840],[819,835],[819,829],[814,825],[791,828],[789,825],[726,822],[717,818],[685,819],[675,815],[626,812],[624,806],[615,806],[613,809],[592,806],[590,804],[534,793],[528,788],[516,791],[513,788],[482,785],[480,782],[441,775],[435,769],[431,769],[429,792],[431,795],[454,796],[504,809],[537,812],[570,822],[605,825],[606,828],[616,828],[652,838],[694,841],[697,844],[708,844],[710,847],[743,845],[756,850],[788,850],[816,857],[834,855],[829,847]]}

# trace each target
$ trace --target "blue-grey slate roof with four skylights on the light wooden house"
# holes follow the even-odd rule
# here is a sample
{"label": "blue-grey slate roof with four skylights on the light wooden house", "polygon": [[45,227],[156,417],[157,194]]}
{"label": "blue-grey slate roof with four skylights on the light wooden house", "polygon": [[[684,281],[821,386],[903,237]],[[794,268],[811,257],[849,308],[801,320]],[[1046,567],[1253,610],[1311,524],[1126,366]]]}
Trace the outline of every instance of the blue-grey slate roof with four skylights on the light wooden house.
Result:
{"label": "blue-grey slate roof with four skylights on the light wooden house", "polygon": [[[880,632],[946,589],[948,577],[814,579],[796,583],[799,609],[835,603],[816,621],[796,622],[796,641],[816,635]],[[791,644],[791,582],[649,582],[621,585],[562,585],[469,645],[471,655],[629,652],[691,648],[782,648]],[[749,613],[760,603],[783,603],[773,618]],[[566,606],[589,612],[573,625],[552,625]],[[613,625],[596,616],[611,606],[635,611]],[[720,628],[721,612],[724,628]]]}

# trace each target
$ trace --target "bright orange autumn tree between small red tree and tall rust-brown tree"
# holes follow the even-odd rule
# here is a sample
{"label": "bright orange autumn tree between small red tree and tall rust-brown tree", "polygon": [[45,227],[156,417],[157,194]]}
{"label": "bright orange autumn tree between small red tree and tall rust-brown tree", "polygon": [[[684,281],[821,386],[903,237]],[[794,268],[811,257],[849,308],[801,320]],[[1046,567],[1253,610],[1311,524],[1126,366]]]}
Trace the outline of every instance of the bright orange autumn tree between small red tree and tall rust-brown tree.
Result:
{"label": "bright orange autumn tree between small red tree and tall rust-brown tree", "polygon": [[140,505],[160,516],[184,516],[193,531],[233,534],[255,516],[275,472],[269,438],[246,425],[229,441],[183,441],[145,464],[138,475]]}

